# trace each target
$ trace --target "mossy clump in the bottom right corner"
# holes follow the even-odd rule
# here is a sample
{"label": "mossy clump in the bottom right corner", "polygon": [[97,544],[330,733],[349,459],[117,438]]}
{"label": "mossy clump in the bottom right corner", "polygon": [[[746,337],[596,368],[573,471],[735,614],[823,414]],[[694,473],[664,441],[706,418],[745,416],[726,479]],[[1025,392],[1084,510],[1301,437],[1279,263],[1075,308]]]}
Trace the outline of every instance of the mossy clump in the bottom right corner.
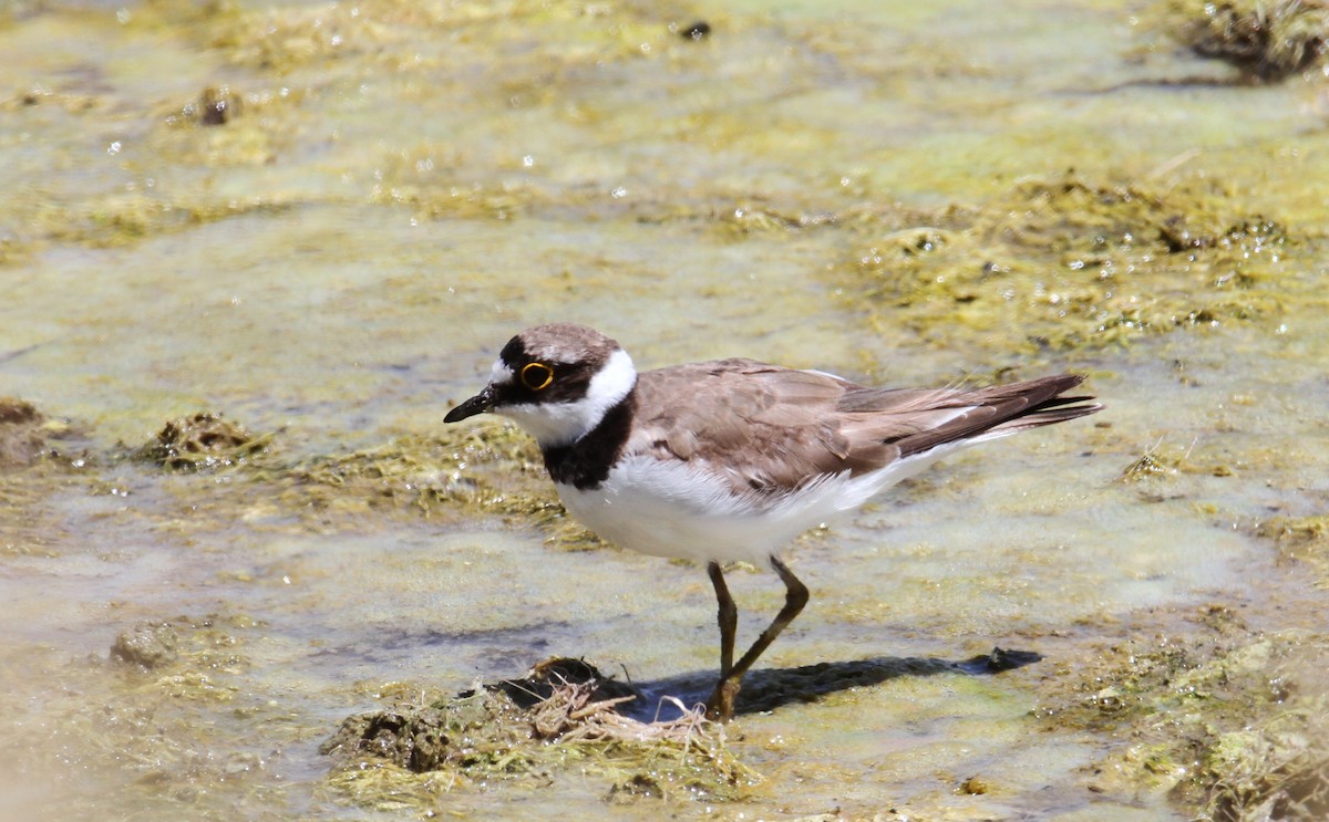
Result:
{"label": "mossy clump in the bottom right corner", "polygon": [[1329,637],[1263,633],[1221,604],[1187,621],[1063,667],[1039,716],[1123,741],[1091,790],[1148,786],[1204,819],[1322,819]]}

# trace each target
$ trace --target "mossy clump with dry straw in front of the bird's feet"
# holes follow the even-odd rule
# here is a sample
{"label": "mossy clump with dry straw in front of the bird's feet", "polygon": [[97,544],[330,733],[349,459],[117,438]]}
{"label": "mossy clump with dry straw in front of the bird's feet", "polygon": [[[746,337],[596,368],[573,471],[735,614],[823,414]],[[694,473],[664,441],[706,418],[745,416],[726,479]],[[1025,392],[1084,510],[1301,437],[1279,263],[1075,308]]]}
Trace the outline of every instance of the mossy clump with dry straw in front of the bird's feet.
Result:
{"label": "mossy clump with dry straw in front of the bird's feet", "polygon": [[440,781],[548,786],[560,773],[602,781],[615,802],[734,798],[755,782],[700,709],[661,722],[618,713],[638,696],[581,660],[552,659],[521,680],[348,717],[320,752],[336,762],[332,783],[371,806],[429,805]]}

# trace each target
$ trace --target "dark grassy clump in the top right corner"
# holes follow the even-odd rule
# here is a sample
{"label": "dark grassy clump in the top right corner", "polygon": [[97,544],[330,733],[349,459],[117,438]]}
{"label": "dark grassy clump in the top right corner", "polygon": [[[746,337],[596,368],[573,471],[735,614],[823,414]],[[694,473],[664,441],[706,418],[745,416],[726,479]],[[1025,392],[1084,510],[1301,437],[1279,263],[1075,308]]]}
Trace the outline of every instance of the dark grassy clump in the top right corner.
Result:
{"label": "dark grassy clump in the top right corner", "polygon": [[1277,82],[1322,65],[1329,54],[1324,0],[1168,0],[1168,35],[1201,57],[1223,60],[1255,82]]}

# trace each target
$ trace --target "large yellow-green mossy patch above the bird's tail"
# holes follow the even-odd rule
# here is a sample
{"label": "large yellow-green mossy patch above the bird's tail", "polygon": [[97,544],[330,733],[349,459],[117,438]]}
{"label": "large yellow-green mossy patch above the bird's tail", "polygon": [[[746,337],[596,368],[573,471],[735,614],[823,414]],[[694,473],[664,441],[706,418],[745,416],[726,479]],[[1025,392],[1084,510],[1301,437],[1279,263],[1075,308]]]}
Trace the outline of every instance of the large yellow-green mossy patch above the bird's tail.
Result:
{"label": "large yellow-green mossy patch above the bird's tail", "polygon": [[1273,319],[1286,242],[1219,191],[1069,173],[886,234],[845,274],[884,335],[1067,351]]}

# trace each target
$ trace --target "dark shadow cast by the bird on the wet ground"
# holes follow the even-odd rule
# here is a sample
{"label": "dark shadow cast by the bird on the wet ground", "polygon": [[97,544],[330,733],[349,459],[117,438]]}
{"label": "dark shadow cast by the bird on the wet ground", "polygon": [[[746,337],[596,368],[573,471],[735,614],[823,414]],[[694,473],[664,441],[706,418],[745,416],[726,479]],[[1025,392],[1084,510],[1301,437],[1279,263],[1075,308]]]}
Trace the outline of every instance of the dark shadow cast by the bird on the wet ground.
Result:
{"label": "dark shadow cast by the bird on the wet ground", "polygon": [[[878,685],[902,676],[938,673],[990,676],[1023,668],[1042,659],[1042,655],[1033,651],[993,648],[990,653],[958,661],[937,657],[873,656],[797,668],[763,668],[750,672],[743,679],[735,713],[740,716],[764,713],[795,702],[815,702],[829,693]],[[582,681],[594,687],[594,699],[634,697],[622,701],[614,709],[626,717],[651,722],[675,720],[686,709],[704,702],[715,687],[715,677],[714,671],[695,671],[659,680],[622,681],[603,676],[583,660],[553,657],[537,665],[528,677],[505,680],[494,688],[508,692],[518,705],[526,706],[526,702],[533,704],[545,699],[546,691],[554,684]]]}

